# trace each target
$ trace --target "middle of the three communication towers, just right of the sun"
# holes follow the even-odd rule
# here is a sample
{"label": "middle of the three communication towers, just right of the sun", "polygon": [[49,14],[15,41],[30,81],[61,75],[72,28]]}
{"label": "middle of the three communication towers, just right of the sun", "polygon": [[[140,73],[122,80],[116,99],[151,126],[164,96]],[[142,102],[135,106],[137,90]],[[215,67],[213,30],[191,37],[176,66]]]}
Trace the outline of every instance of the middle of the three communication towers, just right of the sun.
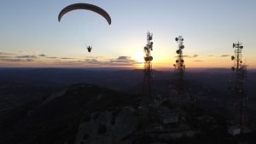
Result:
{"label": "middle of the three communication towers, just right of the sun", "polygon": [[177,53],[177,60],[176,63],[173,65],[175,67],[175,71],[177,73],[177,94],[183,94],[183,75],[185,71],[185,64],[183,60],[183,36],[178,36],[175,38],[176,42],[178,43],[178,48],[176,50]]}

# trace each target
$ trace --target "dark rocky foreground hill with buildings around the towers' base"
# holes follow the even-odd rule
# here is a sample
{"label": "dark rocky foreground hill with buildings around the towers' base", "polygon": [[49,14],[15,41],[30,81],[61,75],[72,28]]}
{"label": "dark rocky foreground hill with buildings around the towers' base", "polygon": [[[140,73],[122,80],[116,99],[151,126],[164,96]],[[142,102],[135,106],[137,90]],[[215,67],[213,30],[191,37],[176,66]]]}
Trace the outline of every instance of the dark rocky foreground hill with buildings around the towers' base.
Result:
{"label": "dark rocky foreground hill with buildings around the towers' base", "polygon": [[142,100],[140,95],[75,84],[49,95],[37,107],[26,111],[18,124],[0,135],[0,143],[179,144],[183,143],[179,140],[183,137],[191,143],[194,135],[218,140],[201,134],[224,131],[220,122],[195,107],[177,109],[172,101],[159,101],[148,107],[140,105]]}

